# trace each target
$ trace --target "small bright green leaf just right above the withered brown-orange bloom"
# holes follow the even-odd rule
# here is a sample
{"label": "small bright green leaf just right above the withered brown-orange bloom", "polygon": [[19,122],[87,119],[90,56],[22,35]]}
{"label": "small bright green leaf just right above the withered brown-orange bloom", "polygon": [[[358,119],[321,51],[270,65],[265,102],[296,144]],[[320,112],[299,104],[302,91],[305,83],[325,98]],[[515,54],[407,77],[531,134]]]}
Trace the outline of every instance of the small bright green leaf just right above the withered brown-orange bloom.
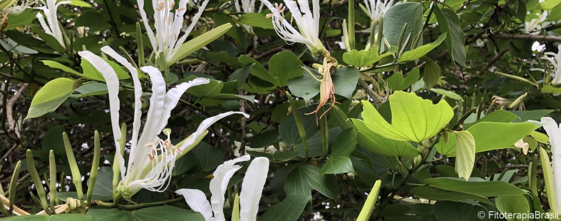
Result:
{"label": "small bright green leaf just right above the withered brown-orange bloom", "polygon": [[380,59],[388,57],[396,53],[397,47],[392,46],[386,53],[378,55],[378,46],[374,45],[370,50],[353,49],[343,54],[343,62],[353,65],[357,68],[366,67],[378,62]]}

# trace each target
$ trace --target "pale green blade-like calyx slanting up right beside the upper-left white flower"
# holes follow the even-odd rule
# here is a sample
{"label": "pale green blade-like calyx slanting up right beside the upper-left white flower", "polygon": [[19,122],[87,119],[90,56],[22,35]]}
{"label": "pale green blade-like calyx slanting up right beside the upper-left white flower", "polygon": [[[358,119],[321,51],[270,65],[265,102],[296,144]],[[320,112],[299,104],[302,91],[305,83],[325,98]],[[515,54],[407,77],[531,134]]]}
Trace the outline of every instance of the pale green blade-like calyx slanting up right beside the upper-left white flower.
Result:
{"label": "pale green blade-like calyx slanting up right beside the upper-left white flower", "polygon": [[204,46],[218,39],[218,37],[224,35],[231,28],[232,28],[231,23],[225,23],[224,25],[215,27],[210,31],[204,32],[204,34],[196,36],[194,39],[191,39],[190,41],[183,43],[180,46],[180,48],[177,50],[177,53],[173,55],[173,57],[170,60],[167,61],[168,66],[177,63],[181,59],[187,57],[188,55],[194,53],[195,51],[203,48]]}

